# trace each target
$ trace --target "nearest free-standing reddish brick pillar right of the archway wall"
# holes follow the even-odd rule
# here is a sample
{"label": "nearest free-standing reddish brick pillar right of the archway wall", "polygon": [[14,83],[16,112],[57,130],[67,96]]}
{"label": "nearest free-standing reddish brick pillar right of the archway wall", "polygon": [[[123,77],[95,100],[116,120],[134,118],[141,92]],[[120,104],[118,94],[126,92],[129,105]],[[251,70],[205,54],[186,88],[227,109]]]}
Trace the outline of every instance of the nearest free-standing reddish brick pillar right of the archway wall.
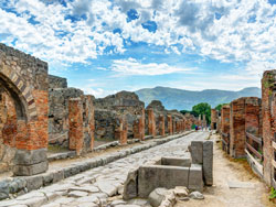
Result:
{"label": "nearest free-standing reddish brick pillar right of the archway wall", "polygon": [[82,153],[84,145],[83,112],[82,99],[71,98],[68,100],[70,150],[75,150],[77,155]]}

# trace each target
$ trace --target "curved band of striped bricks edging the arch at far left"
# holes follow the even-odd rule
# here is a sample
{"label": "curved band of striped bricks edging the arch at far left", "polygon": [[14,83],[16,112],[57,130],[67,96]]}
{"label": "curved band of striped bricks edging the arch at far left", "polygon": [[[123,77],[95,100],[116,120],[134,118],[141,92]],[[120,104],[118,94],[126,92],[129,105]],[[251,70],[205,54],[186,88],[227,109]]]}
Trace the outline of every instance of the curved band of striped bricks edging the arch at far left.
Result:
{"label": "curved band of striped bricks edging the arch at far left", "polygon": [[15,69],[11,66],[0,65],[0,83],[6,86],[6,89],[10,91],[17,101],[19,118],[35,119],[38,117],[36,106],[31,89]]}

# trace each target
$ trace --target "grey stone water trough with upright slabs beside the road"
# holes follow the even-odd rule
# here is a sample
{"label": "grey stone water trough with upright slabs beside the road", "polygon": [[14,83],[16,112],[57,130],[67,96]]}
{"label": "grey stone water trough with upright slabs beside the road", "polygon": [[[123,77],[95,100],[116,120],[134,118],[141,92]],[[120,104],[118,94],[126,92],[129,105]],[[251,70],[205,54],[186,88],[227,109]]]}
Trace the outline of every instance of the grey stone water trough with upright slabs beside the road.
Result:
{"label": "grey stone water trough with upright slabs beside the road", "polygon": [[171,189],[185,186],[189,190],[203,190],[213,185],[213,142],[192,141],[184,157],[155,157],[128,173],[124,199],[148,198],[156,188]]}

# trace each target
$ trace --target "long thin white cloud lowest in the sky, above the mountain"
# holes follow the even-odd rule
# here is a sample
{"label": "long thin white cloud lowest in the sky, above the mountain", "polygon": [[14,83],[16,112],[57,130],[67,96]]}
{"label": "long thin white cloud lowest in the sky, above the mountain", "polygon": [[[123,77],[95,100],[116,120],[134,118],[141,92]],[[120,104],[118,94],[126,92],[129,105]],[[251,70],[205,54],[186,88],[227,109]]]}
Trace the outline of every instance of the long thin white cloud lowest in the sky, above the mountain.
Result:
{"label": "long thin white cloud lowest in the sky, above the mountain", "polygon": [[142,63],[139,63],[135,58],[116,59],[112,64],[112,70],[123,76],[131,76],[131,75],[156,76],[156,75],[166,75],[166,74],[172,74],[172,73],[188,73],[188,72],[195,70],[195,69],[197,68],[174,67],[166,63],[142,64]]}

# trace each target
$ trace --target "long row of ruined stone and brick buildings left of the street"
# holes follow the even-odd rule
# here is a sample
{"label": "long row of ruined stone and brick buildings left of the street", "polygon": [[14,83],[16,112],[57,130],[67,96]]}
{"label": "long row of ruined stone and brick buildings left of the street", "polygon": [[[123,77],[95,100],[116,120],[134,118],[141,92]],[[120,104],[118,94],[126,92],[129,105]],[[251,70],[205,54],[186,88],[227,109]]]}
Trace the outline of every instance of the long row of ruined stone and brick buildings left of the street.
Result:
{"label": "long row of ruined stone and brick buildings left of the street", "polygon": [[[121,91],[95,99],[49,75],[47,64],[0,44],[0,171],[35,175],[47,171],[47,149],[81,155],[94,150],[94,139],[145,140],[191,129],[178,111],[160,101],[145,103]],[[71,153],[72,154],[72,153]]]}

